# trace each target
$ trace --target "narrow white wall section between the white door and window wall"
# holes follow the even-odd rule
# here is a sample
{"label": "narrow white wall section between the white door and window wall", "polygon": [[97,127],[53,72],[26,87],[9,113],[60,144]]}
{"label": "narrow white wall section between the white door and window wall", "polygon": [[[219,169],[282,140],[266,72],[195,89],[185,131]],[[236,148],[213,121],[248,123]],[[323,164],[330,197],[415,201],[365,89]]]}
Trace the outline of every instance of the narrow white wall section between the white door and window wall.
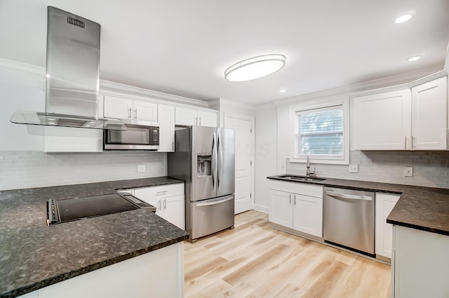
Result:
{"label": "narrow white wall section between the white door and window wall", "polygon": [[261,107],[255,114],[255,196],[254,209],[269,212],[267,176],[276,170],[277,113],[273,104]]}

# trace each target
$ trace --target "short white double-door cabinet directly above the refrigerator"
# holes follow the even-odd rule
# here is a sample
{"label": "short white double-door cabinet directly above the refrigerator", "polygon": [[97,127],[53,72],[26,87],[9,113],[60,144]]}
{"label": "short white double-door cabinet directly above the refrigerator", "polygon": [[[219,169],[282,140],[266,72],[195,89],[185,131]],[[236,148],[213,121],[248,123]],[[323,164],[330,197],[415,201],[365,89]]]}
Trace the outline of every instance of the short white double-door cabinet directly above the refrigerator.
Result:
{"label": "short white double-door cabinet directly above the refrigerator", "polygon": [[217,111],[205,111],[201,109],[176,107],[175,124],[177,126],[212,126],[217,127]]}

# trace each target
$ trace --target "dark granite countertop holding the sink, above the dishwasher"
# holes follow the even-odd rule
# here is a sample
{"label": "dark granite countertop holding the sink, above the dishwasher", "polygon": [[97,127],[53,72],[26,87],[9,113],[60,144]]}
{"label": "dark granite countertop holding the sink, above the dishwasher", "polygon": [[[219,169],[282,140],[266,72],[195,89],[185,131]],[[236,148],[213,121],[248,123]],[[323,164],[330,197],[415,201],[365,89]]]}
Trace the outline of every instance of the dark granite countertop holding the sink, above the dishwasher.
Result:
{"label": "dark granite countertop holding the sink, above the dishwasher", "polygon": [[[280,176],[282,175],[267,178],[295,183]],[[333,178],[300,183],[400,194],[401,198],[387,217],[389,224],[449,236],[449,189]]]}

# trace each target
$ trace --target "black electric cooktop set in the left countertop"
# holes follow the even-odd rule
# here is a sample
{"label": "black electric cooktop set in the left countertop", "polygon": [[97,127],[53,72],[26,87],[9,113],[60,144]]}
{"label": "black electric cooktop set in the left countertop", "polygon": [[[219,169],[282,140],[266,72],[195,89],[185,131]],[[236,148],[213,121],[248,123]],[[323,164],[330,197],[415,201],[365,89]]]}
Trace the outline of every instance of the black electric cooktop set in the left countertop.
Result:
{"label": "black electric cooktop set in the left countertop", "polygon": [[76,219],[108,215],[139,208],[156,208],[149,203],[140,201],[130,194],[104,194],[101,196],[86,196],[82,198],[50,199],[47,202],[47,224],[71,222]]}

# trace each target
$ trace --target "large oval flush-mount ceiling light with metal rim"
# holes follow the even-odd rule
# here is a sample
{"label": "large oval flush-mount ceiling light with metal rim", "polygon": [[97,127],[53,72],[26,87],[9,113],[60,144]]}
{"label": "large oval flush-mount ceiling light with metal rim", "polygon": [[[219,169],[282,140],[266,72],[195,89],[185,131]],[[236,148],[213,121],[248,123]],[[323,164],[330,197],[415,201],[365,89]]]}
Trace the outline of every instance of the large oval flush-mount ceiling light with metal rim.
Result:
{"label": "large oval flush-mount ceiling light with metal rim", "polygon": [[243,82],[262,78],[277,72],[286,65],[286,56],[281,54],[268,54],[252,57],[237,62],[225,70],[228,81]]}

